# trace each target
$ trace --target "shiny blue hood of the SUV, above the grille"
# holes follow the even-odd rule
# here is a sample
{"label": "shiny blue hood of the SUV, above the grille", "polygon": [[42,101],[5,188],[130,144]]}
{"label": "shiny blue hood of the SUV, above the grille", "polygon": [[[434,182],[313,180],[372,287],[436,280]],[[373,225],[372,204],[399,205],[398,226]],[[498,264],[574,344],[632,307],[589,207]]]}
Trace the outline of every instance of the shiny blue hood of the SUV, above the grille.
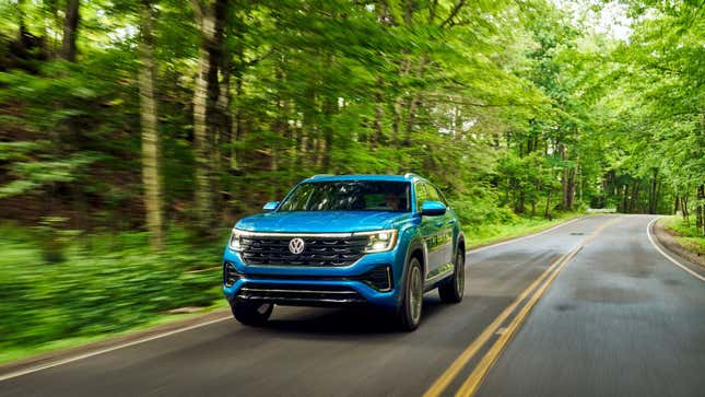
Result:
{"label": "shiny blue hood of the SUV, above the grille", "polygon": [[256,232],[348,233],[390,227],[408,213],[371,211],[267,212],[242,219],[235,227]]}

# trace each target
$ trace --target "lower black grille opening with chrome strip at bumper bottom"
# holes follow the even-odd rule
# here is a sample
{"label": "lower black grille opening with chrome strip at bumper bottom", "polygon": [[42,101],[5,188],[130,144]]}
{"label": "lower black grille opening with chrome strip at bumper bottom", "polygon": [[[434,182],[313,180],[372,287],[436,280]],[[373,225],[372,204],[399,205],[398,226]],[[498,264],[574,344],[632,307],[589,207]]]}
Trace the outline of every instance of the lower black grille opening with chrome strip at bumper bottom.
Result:
{"label": "lower black grille opening with chrome strip at bumper bottom", "polygon": [[263,301],[284,305],[345,305],[363,303],[365,299],[343,285],[248,283],[239,289],[242,301]]}

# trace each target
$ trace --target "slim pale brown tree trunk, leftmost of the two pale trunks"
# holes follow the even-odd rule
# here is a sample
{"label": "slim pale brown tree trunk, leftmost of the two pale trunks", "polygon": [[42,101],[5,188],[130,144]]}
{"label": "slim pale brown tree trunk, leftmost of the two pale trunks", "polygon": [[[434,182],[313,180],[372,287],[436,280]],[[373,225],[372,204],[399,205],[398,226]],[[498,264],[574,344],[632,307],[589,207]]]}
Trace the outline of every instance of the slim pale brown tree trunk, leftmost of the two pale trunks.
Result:
{"label": "slim pale brown tree trunk, leftmost of the two pale trunks", "polygon": [[154,100],[154,57],[152,51],[152,5],[149,0],[140,4],[140,121],[142,130],[142,184],[146,229],[152,249],[164,247],[162,218],[162,184],[160,170],[160,136],[157,131],[156,101]]}

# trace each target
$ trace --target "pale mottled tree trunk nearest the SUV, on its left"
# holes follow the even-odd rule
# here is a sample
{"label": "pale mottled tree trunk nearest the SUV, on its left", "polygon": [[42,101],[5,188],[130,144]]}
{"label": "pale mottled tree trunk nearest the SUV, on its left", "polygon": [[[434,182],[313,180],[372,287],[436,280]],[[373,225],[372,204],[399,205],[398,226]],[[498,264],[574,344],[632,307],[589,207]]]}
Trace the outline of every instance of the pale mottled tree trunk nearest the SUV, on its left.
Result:
{"label": "pale mottled tree trunk nearest the SUV, on its left", "polygon": [[[196,145],[196,225],[210,235],[215,224],[212,157],[218,130],[216,102],[220,95],[218,68],[221,62],[223,24],[227,1],[213,0],[196,10],[200,15],[201,44],[193,90],[193,140]],[[198,7],[198,3],[197,3]]]}

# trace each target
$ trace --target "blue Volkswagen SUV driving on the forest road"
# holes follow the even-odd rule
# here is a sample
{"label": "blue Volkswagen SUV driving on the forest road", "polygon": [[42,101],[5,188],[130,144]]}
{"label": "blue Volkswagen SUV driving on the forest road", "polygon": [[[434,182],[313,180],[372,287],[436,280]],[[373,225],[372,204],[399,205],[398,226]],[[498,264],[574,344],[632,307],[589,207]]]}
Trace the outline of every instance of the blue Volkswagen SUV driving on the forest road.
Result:
{"label": "blue Volkswagen SUV driving on the forest road", "polygon": [[462,230],[418,175],[317,175],[263,210],[235,224],[223,257],[223,291],[243,324],[263,324],[274,305],[372,304],[413,330],[424,292],[462,300]]}

